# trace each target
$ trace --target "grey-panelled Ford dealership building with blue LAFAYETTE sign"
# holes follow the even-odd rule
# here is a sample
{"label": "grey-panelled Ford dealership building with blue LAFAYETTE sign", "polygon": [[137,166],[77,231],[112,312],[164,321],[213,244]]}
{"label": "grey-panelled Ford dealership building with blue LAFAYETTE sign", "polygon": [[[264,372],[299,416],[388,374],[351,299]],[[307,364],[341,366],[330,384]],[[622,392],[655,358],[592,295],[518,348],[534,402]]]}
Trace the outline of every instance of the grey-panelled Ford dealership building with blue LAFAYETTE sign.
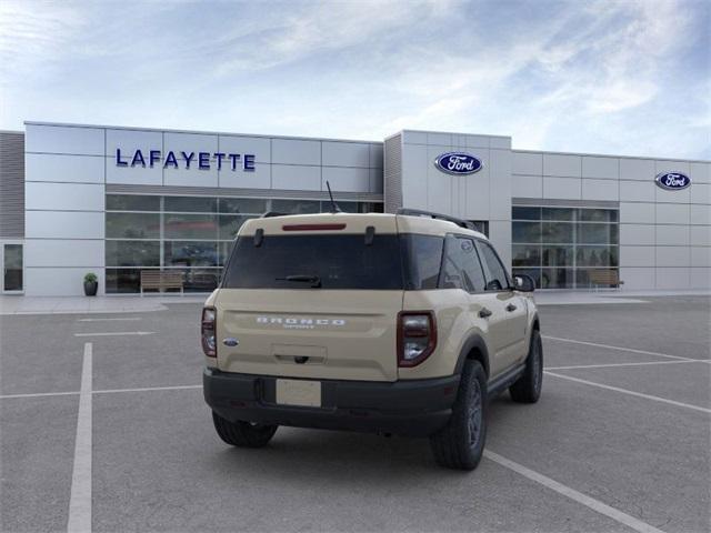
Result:
{"label": "grey-panelled Ford dealership building with blue LAFAYETTE sign", "polygon": [[138,293],[162,271],[208,292],[246,219],[328,211],[327,181],[343,211],[472,221],[542,289],[711,289],[709,161],[44,122],[0,132],[0,289],[80,295],[93,272]]}

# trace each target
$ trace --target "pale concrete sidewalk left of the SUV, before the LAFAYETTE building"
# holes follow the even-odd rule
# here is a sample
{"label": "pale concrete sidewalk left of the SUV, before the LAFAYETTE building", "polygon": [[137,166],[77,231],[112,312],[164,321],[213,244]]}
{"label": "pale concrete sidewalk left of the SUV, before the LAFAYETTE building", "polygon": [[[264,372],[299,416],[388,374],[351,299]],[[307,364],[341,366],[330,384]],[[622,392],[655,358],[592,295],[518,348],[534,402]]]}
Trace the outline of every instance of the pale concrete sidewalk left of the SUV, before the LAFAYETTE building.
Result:
{"label": "pale concrete sidewalk left of the SUV, before the LAFAYETTE building", "polygon": [[114,296],[16,296],[0,295],[0,315],[144,313],[164,311],[167,303],[202,303],[207,294]]}

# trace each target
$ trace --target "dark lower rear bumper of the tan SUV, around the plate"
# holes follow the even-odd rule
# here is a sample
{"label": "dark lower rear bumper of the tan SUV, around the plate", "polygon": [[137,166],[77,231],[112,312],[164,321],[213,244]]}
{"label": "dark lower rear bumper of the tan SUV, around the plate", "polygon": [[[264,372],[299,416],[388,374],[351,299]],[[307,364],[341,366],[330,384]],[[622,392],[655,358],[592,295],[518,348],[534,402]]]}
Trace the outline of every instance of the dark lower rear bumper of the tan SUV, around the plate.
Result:
{"label": "dark lower rear bumper of the tan SUV, around the plate", "polygon": [[447,424],[459,375],[397,382],[321,381],[321,408],[276,403],[276,376],[206,369],[204,400],[223,419],[425,436]]}

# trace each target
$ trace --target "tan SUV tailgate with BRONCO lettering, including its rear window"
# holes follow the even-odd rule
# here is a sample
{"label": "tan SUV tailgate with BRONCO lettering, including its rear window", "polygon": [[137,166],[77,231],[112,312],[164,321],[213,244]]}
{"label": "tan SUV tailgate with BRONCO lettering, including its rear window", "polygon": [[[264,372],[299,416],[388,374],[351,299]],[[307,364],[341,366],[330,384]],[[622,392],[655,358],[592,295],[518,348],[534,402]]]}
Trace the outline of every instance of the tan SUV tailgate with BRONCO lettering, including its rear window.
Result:
{"label": "tan SUV tailgate with BRONCO lettering, including its rear window", "polygon": [[332,215],[324,224],[320,215],[247,224],[216,300],[220,370],[397,379],[400,248],[393,217],[371,224],[368,219]]}

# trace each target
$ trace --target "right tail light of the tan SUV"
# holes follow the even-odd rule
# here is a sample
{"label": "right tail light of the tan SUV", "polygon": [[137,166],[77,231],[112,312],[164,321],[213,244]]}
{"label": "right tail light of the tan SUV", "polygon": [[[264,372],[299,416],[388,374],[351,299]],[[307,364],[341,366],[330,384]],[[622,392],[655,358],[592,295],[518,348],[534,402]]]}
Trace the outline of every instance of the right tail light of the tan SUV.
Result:
{"label": "right tail light of the tan SUV", "polygon": [[398,314],[398,366],[417,366],[437,346],[437,322],[432,311]]}

